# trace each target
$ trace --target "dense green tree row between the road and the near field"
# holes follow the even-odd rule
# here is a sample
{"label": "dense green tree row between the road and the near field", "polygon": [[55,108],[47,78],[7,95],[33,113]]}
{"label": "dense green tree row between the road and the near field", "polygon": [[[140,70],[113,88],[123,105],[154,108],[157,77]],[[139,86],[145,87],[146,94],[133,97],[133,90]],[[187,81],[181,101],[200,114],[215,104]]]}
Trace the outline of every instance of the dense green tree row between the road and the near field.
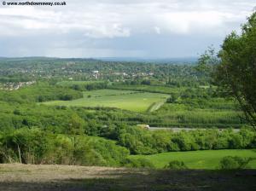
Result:
{"label": "dense green tree row between the road and the near field", "polygon": [[246,129],[239,133],[233,130],[192,130],[174,133],[168,130],[148,131],[123,127],[119,130],[118,143],[128,148],[132,154],[152,154],[170,151],[254,148],[255,139],[255,133]]}

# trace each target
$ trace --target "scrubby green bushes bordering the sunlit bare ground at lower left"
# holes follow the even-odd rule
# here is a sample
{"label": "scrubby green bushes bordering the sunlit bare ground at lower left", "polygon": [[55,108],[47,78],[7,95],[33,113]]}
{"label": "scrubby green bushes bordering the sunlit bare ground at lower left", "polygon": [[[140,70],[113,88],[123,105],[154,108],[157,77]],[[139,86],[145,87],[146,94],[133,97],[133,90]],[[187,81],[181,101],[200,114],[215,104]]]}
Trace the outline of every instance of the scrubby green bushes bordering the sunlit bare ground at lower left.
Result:
{"label": "scrubby green bushes bordering the sunlit bare ground at lower left", "polygon": [[58,135],[38,128],[1,133],[0,142],[2,163],[116,166],[129,153],[99,137]]}

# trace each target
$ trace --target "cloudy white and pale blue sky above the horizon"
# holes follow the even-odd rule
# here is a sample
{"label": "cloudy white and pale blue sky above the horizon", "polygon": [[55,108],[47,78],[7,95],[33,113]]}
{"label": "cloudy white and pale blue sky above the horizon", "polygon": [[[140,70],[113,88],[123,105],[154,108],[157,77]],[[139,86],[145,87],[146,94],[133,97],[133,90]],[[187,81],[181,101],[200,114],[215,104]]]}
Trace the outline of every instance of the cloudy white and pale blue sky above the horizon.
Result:
{"label": "cloudy white and pale blue sky above the horizon", "polygon": [[[33,2],[63,0],[33,0]],[[219,49],[255,0],[0,0],[0,56],[178,58]],[[26,2],[26,0],[5,0]]]}

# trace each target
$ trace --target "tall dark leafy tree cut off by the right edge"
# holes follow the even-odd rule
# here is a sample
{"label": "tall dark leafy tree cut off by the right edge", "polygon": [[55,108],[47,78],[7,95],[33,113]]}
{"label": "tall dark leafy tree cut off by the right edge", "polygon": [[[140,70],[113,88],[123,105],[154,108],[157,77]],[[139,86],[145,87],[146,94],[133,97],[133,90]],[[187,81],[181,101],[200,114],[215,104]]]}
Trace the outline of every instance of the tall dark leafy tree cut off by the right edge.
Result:
{"label": "tall dark leafy tree cut off by the right edge", "polygon": [[240,35],[232,32],[224,39],[218,56],[221,61],[215,81],[236,98],[256,128],[256,12],[242,26]]}

